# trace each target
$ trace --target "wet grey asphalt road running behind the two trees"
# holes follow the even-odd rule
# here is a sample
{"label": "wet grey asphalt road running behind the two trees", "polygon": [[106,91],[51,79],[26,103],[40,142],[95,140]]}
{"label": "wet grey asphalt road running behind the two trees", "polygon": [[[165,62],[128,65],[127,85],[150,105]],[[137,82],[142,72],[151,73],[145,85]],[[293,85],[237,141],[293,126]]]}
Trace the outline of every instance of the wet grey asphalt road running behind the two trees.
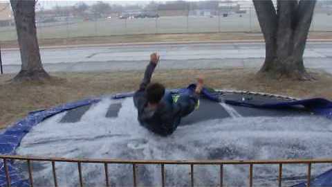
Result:
{"label": "wet grey asphalt road running behind the two trees", "polygon": [[[145,69],[149,54],[160,53],[159,69],[259,68],[264,43],[149,44],[42,49],[47,71],[130,71]],[[20,69],[18,50],[3,51],[3,70]],[[332,73],[332,42],[310,42],[304,54],[307,68]]]}

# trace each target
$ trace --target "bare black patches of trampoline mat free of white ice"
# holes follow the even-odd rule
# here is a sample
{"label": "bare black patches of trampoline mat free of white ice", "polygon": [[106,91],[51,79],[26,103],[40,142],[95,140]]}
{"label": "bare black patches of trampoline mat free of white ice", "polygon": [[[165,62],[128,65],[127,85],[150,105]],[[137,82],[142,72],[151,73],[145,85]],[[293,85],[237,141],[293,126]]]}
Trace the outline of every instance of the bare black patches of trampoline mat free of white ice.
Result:
{"label": "bare black patches of trampoline mat free of white ice", "polygon": [[[254,94],[221,94],[221,100],[248,100],[250,103],[275,103],[280,101],[289,101],[289,98],[276,98],[270,96],[260,96]],[[121,100],[120,100],[121,101]],[[122,107],[122,103],[111,103],[107,109],[106,118],[117,118],[118,113]],[[89,112],[91,105],[77,107],[68,110],[66,115],[62,117],[60,123],[76,123],[81,120],[82,116]],[[213,119],[222,119],[229,117],[252,117],[252,116],[308,116],[308,112],[304,108],[290,107],[286,109],[259,109],[252,107],[241,107],[226,105],[225,103],[216,103],[206,98],[200,99],[199,108],[192,114],[182,118],[180,125],[192,125],[201,121],[208,121]]]}

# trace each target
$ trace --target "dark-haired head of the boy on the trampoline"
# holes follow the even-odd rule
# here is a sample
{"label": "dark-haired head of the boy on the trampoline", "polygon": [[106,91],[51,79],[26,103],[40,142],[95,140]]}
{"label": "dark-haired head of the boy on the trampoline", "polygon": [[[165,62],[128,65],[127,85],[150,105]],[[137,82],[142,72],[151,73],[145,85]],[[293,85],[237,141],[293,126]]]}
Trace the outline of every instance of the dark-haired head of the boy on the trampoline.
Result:
{"label": "dark-haired head of the boy on the trampoline", "polygon": [[147,93],[147,101],[152,104],[159,103],[165,94],[165,87],[160,83],[151,83],[145,90]]}

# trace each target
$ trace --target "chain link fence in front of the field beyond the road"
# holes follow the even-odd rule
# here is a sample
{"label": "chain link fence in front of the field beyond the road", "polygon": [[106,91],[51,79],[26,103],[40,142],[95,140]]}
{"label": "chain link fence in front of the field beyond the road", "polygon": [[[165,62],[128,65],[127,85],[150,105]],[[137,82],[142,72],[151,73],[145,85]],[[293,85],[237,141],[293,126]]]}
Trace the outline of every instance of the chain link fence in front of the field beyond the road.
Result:
{"label": "chain link fence in front of the field beyond the road", "polygon": [[[37,10],[39,39],[69,39],[75,37],[104,37],[111,35],[168,34],[168,33],[259,33],[255,8],[250,4],[202,9],[187,8],[126,10],[95,15],[86,10],[85,15],[75,15],[65,9],[73,6],[62,1],[57,8]],[[223,1],[219,1],[223,2]],[[248,2],[248,1],[247,1]],[[61,8],[61,6],[63,8]],[[233,10],[237,6],[237,10]],[[57,10],[59,9],[59,10]],[[11,16],[12,17],[12,16]],[[332,32],[332,4],[322,1],[313,15],[311,31]],[[0,14],[1,21],[1,14]],[[0,23],[0,41],[17,39],[14,21]]]}

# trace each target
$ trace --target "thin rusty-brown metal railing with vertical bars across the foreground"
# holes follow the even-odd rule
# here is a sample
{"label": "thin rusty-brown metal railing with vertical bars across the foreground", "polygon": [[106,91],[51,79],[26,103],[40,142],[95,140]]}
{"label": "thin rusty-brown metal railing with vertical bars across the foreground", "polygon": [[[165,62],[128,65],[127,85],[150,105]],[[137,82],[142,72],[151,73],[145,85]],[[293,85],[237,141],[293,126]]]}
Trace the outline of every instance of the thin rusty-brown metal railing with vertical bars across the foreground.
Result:
{"label": "thin rusty-brown metal railing with vertical bars across the foreground", "polygon": [[[28,175],[30,186],[33,187],[33,168],[31,163],[34,161],[39,162],[50,162],[53,170],[53,180],[54,186],[57,184],[57,173],[55,168],[55,163],[77,163],[77,171],[80,180],[80,186],[84,186],[84,181],[82,177],[82,163],[100,163],[104,165],[104,175],[105,175],[105,185],[110,186],[109,182],[109,164],[130,164],[132,166],[133,172],[133,186],[137,186],[137,172],[136,167],[138,165],[156,165],[160,166],[161,184],[165,186],[165,165],[187,165],[190,166],[190,186],[194,186],[194,166],[199,165],[210,165],[219,166],[219,186],[223,186],[223,166],[225,165],[248,165],[249,166],[249,184],[253,185],[253,172],[255,165],[279,165],[279,174],[277,177],[278,186],[282,186],[282,167],[284,164],[306,164],[307,165],[307,175],[306,175],[306,186],[311,184],[311,167],[315,163],[332,163],[332,159],[293,159],[293,160],[122,160],[122,159],[68,159],[68,158],[57,158],[57,157],[24,157],[24,156],[12,156],[12,155],[0,155],[0,159],[3,160],[3,166],[6,172],[7,186],[10,187],[10,175],[8,171],[8,160],[15,161],[26,161],[28,166]],[[188,169],[189,170],[189,169]]]}

